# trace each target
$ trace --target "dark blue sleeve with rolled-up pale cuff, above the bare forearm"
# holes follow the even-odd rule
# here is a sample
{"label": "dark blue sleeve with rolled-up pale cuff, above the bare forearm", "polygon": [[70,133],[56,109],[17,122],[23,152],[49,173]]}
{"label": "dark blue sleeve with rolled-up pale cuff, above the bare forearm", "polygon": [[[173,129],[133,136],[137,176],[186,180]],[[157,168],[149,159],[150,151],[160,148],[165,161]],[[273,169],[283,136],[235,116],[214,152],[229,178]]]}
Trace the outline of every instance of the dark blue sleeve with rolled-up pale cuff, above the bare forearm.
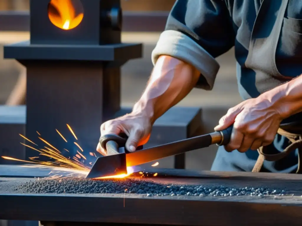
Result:
{"label": "dark blue sleeve with rolled-up pale cuff, above the bare forearm", "polygon": [[196,87],[213,89],[219,64],[215,58],[235,43],[230,12],[224,0],[176,0],[152,52],[185,61],[201,73]]}

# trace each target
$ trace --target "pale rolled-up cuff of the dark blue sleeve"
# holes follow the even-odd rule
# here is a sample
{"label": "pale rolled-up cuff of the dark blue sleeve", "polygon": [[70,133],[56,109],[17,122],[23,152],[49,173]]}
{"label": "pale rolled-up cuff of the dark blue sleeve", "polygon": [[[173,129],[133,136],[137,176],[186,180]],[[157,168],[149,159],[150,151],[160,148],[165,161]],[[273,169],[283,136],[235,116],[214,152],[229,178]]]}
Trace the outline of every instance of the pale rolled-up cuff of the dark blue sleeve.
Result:
{"label": "pale rolled-up cuff of the dark blue sleeve", "polygon": [[205,90],[213,89],[220,65],[190,37],[175,30],[162,32],[152,51],[153,65],[160,55],[169,55],[191,64],[201,73],[196,87]]}

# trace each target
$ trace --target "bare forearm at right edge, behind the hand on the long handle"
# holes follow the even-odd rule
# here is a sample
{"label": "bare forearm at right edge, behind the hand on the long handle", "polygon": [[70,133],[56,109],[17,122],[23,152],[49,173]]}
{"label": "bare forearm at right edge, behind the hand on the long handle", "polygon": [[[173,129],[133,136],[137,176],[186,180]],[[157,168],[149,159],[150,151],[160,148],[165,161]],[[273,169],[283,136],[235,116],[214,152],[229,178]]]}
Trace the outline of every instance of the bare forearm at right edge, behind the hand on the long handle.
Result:
{"label": "bare forearm at right edge, behind the hand on the long handle", "polygon": [[267,98],[280,111],[282,118],[302,111],[302,76],[282,84],[259,96]]}

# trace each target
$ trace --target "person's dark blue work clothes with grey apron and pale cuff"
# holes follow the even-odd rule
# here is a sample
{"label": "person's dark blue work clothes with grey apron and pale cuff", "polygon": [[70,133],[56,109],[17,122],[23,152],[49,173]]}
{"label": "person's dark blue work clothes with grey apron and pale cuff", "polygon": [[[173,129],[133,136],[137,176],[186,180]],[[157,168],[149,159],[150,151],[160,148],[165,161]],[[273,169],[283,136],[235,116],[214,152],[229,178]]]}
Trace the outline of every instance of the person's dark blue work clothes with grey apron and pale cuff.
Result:
{"label": "person's dark blue work clothes with grey apron and pale cuff", "polygon": [[[235,46],[240,96],[255,98],[302,74],[302,0],[177,0],[165,31],[153,50],[194,65],[197,87],[211,90],[219,64],[215,58]],[[302,118],[294,116],[295,120]],[[288,140],[279,135],[270,145],[281,151]],[[258,153],[225,152],[220,147],[212,170],[251,171]],[[297,153],[264,163],[263,171],[294,172]]]}

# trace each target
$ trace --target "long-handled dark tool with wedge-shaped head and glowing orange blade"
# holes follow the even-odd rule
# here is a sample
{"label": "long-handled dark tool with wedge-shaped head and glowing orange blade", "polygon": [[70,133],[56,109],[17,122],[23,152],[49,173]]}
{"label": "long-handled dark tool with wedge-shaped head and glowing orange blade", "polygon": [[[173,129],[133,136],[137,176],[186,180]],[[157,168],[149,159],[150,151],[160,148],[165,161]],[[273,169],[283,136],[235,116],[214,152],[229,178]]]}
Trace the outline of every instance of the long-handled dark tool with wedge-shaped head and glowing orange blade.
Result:
{"label": "long-handled dark tool with wedge-shaped head and glowing orange blade", "polygon": [[175,141],[159,146],[143,149],[138,147],[137,151],[129,152],[125,148],[126,136],[106,134],[101,136],[100,144],[107,151],[107,155],[99,157],[93,164],[86,178],[98,178],[127,174],[128,166],[135,166],[162,159],[171,155],[177,155],[195,149],[208,147],[211,144],[226,145],[230,142],[233,125],[222,131]]}

